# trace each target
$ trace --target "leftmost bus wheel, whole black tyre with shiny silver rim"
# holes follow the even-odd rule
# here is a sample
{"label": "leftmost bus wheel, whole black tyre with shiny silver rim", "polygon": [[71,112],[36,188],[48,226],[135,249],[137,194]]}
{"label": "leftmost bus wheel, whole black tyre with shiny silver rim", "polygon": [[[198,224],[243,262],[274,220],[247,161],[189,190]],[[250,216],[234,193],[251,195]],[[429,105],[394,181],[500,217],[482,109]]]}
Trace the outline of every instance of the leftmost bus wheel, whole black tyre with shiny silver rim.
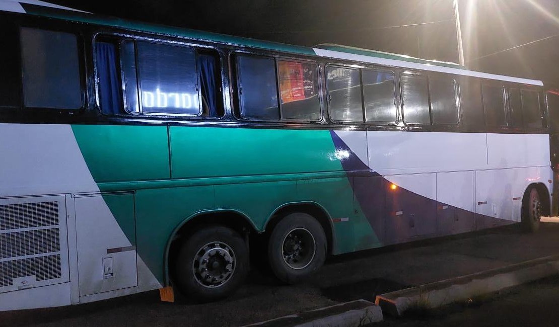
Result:
{"label": "leftmost bus wheel, whole black tyre with shiny silver rim", "polygon": [[208,302],[233,294],[248,272],[248,249],[234,230],[213,226],[198,230],[179,248],[175,281],[183,294]]}

